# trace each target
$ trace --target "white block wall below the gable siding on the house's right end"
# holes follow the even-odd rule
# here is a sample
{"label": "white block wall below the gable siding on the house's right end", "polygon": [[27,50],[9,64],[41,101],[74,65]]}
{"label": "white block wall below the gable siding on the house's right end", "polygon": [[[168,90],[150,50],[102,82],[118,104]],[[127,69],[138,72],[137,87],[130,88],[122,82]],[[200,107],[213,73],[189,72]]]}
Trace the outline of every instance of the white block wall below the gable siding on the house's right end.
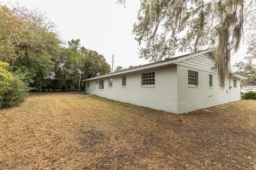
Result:
{"label": "white block wall below the gable siding on the house's right end", "polygon": [[[233,87],[233,79],[227,76],[225,88],[219,87],[218,74],[178,65],[178,113],[187,113],[200,108],[211,107],[240,100],[240,81]],[[188,70],[198,72],[198,87],[188,86]],[[209,87],[209,74],[213,75],[213,87]]]}

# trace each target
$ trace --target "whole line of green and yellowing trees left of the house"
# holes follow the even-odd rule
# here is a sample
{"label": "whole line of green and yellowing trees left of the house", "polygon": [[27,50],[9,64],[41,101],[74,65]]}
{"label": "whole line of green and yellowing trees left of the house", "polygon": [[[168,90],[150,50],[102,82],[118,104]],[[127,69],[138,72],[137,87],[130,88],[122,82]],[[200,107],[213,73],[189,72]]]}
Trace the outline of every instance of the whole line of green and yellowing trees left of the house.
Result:
{"label": "whole line of green and yellowing trees left of the house", "polygon": [[[110,71],[105,58],[81,47],[79,39],[63,47],[55,25],[40,11],[0,4],[0,27],[0,61],[8,63],[8,73],[18,74],[30,90],[80,90],[83,79]],[[0,74],[6,73],[5,67],[0,65]],[[10,86],[8,78],[0,77],[5,84],[0,84],[0,91]]]}

